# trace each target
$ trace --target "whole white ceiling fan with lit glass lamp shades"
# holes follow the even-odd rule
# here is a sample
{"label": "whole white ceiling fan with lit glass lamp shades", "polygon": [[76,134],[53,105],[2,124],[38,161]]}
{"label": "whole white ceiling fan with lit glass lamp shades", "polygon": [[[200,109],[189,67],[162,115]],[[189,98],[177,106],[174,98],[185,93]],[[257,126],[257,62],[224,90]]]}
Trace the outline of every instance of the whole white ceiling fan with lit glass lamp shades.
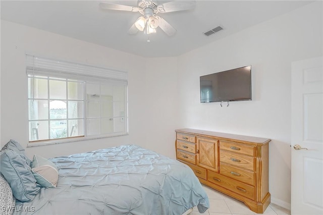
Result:
{"label": "whole white ceiling fan with lit glass lamp shades", "polygon": [[139,0],[138,7],[110,3],[100,3],[100,7],[107,10],[139,12],[142,14],[143,16],[139,17],[130,27],[129,34],[135,34],[138,30],[151,34],[155,33],[156,28],[159,27],[167,35],[172,36],[176,33],[176,29],[157,14],[192,9],[195,7],[195,1],[174,1],[158,5],[157,1]]}

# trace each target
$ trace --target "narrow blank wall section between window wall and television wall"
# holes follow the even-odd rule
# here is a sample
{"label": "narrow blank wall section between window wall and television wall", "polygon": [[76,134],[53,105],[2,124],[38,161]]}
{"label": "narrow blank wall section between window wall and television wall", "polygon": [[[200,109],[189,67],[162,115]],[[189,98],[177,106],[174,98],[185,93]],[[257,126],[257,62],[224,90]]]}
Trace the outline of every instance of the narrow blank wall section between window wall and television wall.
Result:
{"label": "narrow blank wall section between window wall and television wall", "polygon": [[149,149],[175,158],[178,121],[177,58],[151,58],[146,64],[148,110],[146,142]]}

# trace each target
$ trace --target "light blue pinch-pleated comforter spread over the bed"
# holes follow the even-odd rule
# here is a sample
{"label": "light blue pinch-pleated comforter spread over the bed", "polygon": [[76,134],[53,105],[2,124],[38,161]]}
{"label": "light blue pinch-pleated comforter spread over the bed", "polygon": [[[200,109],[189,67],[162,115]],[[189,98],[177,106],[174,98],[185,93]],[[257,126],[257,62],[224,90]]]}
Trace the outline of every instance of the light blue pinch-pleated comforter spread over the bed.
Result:
{"label": "light blue pinch-pleated comforter spread over the bed", "polygon": [[193,171],[175,159],[124,145],[49,159],[56,188],[42,187],[13,214],[183,214],[209,207]]}

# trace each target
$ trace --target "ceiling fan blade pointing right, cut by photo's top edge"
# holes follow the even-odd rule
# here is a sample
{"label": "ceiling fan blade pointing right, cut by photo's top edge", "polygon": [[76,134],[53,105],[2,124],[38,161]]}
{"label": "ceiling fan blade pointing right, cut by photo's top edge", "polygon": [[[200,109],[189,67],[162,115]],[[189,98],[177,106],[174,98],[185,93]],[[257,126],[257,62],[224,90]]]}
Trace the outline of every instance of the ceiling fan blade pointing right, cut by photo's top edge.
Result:
{"label": "ceiling fan blade pointing right, cut by photo's top edge", "polygon": [[168,13],[174,11],[185,11],[195,7],[195,1],[174,1],[158,5],[157,10],[159,13]]}

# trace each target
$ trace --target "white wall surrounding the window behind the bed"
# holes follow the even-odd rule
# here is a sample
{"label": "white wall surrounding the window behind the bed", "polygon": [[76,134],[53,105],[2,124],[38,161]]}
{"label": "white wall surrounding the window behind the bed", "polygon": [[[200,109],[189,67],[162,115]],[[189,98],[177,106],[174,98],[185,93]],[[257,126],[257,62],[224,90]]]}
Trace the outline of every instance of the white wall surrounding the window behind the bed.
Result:
{"label": "white wall surrounding the window behind the bed", "polygon": [[28,147],[44,157],[85,152],[121,144],[145,146],[145,65],[143,58],[81,40],[1,21],[1,145],[10,139],[28,142],[28,103],[25,53],[40,57],[127,71],[129,76],[129,135],[57,145]]}

